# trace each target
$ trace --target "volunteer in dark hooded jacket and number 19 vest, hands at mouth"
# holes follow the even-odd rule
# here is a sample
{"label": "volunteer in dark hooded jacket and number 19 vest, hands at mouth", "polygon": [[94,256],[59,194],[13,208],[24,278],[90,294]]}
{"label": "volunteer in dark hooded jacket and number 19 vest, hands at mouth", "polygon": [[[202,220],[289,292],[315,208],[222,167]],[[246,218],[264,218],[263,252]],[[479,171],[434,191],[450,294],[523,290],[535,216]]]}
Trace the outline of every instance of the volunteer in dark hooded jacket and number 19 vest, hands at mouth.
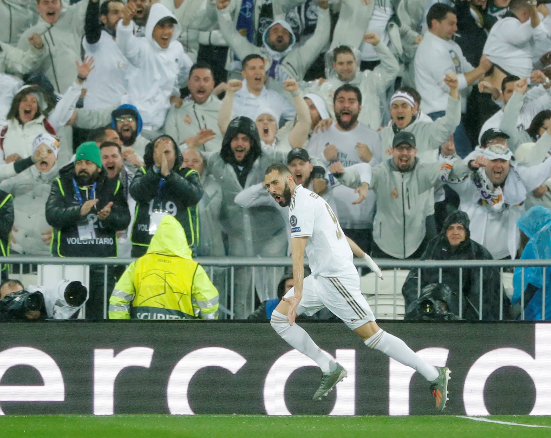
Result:
{"label": "volunteer in dark hooded jacket and number 19 vest, hands at mouth", "polygon": [[145,148],[145,166],[138,169],[130,185],[136,201],[132,225],[132,257],[145,254],[161,219],[174,216],[195,250],[199,241],[197,203],[203,188],[196,170],[182,165],[182,153],[170,136],[160,136]]}

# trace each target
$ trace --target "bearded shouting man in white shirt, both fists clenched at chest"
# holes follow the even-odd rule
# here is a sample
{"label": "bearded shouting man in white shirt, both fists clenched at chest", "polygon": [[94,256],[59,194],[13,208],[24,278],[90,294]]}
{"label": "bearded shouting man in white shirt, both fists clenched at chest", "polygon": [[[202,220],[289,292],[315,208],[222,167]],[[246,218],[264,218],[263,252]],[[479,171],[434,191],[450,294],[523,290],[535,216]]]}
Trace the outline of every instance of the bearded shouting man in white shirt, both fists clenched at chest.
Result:
{"label": "bearded shouting man in white shirt, both fists clenched at chest", "polygon": [[[379,164],[382,159],[381,140],[377,133],[358,121],[362,96],[360,90],[350,84],[340,86],[334,94],[333,106],[336,121],[326,132],[310,137],[306,149],[312,158],[321,160],[323,166],[341,161],[345,167],[358,163]],[[367,202],[353,205],[358,196],[349,187],[333,188],[335,213],[344,233],[364,251],[371,248],[371,228],[375,208],[375,196]]]}

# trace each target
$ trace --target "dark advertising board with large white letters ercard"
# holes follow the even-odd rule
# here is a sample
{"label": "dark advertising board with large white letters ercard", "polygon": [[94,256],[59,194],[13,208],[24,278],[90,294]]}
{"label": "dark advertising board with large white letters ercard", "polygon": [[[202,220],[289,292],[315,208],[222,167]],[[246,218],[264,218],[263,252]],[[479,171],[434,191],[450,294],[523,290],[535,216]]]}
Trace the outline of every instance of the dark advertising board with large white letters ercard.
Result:
{"label": "dark advertising board with large white letters ercard", "polygon": [[[0,413],[437,414],[422,376],[365,347],[344,324],[301,327],[348,370],[321,402],[312,401],[320,370],[267,322],[4,323]],[[551,415],[551,323],[381,327],[430,364],[450,367],[444,414]]]}

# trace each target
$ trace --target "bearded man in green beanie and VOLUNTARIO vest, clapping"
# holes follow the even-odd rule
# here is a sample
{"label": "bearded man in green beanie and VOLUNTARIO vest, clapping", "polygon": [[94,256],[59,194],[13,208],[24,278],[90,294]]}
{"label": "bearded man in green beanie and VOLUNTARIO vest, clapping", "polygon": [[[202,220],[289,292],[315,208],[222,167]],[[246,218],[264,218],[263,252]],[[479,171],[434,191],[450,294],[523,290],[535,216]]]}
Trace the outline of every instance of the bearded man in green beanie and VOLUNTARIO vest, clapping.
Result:
{"label": "bearded man in green beanie and VOLUNTARIO vest, clapping", "polygon": [[[64,166],[52,182],[46,220],[53,227],[54,256],[118,256],[117,231],[127,228],[130,212],[120,181],[107,177],[100,149],[94,142],[81,144],[74,163]],[[112,290],[112,270],[104,272],[103,266],[90,266],[87,318],[104,318],[104,274],[107,290]]]}

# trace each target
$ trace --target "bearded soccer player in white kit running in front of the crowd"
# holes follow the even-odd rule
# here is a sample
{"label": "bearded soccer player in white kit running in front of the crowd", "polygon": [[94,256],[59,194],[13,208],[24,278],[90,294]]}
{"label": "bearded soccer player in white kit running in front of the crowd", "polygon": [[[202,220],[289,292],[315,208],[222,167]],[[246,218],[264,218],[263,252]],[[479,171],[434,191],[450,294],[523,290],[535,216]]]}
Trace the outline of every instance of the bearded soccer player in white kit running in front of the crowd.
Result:
{"label": "bearded soccer player in white kit running in front of the crowd", "polygon": [[[368,302],[360,292],[360,277],[353,254],[363,258],[381,279],[379,267],[352,240],[343,234],[331,207],[316,193],[296,185],[284,164],[273,164],[264,174],[264,187],[281,207],[289,206],[293,278],[290,289],[272,313],[271,325],[291,347],[305,354],[323,372],[314,400],[327,396],[347,376],[347,371],[314,343],[296,325],[295,317],[313,315],[323,307],[331,310],[365,345],[380,350],[399,363],[412,367],[430,382],[430,390],[441,411],[446,406],[450,370],[434,367],[419,358],[403,340],[385,332],[375,322]],[[304,250],[312,274],[304,278]]]}

